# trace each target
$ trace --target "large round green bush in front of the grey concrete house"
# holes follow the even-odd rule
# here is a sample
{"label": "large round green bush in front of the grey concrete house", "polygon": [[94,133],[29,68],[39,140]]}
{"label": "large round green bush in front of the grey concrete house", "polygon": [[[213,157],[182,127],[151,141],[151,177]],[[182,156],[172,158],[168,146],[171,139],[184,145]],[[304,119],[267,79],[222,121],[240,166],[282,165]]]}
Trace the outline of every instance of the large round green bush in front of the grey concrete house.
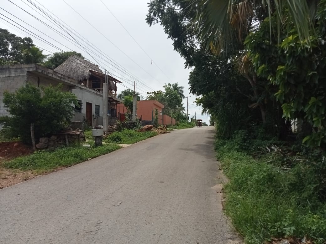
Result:
{"label": "large round green bush in front of the grey concrete house", "polygon": [[[0,117],[0,124],[9,137],[20,137],[31,142],[30,125],[35,124],[36,139],[67,127],[74,114],[76,96],[56,87],[41,87],[27,84],[15,93],[4,92],[4,107],[10,116]],[[42,91],[42,95],[41,95]]]}

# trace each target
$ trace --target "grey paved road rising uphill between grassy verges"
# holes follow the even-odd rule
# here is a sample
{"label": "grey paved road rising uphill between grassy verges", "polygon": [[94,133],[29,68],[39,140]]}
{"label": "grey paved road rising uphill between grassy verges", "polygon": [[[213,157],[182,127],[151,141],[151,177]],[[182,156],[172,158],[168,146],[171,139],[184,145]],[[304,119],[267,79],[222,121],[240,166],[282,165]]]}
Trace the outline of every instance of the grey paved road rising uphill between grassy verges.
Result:
{"label": "grey paved road rising uphill between grassy verges", "polygon": [[176,130],[0,190],[0,243],[240,243],[213,127]]}

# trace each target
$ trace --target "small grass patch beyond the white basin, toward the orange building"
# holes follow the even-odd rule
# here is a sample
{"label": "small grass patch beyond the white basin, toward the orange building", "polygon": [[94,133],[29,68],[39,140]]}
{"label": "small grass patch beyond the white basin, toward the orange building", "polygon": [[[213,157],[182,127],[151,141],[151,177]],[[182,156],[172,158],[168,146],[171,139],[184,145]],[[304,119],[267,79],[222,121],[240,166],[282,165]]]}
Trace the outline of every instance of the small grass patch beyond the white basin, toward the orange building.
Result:
{"label": "small grass patch beyond the white basin, toward the orange building", "polygon": [[113,132],[103,142],[133,144],[156,135],[155,131],[138,132],[137,130],[123,129],[122,131]]}

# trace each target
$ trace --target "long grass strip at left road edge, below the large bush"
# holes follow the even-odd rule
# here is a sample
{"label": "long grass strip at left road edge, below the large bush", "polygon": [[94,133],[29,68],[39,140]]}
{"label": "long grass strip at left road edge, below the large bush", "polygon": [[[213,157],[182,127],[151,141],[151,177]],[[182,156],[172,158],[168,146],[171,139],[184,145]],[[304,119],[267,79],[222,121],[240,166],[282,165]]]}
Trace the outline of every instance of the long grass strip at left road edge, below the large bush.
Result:
{"label": "long grass strip at left road edge, below the large bush", "polygon": [[28,156],[21,156],[5,162],[4,166],[11,169],[50,170],[61,166],[71,166],[121,148],[118,145],[106,144],[100,147],[62,147],[53,152],[42,150]]}

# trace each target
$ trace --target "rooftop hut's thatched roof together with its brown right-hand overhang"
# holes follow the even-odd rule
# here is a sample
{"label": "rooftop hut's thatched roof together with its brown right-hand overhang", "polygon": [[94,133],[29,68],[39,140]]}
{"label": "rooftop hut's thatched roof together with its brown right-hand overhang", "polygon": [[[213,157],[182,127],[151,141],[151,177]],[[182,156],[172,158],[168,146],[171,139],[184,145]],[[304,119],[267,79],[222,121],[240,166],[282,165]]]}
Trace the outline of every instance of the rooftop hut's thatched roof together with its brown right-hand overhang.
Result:
{"label": "rooftop hut's thatched roof together with its brown right-hand overhang", "polygon": [[[105,79],[105,74],[98,65],[78,56],[70,56],[66,61],[56,67],[54,71],[78,81],[87,80],[91,76],[101,78],[103,81]],[[107,77],[109,79],[109,88],[116,90],[116,83],[121,83],[121,81],[110,75],[107,75]]]}

